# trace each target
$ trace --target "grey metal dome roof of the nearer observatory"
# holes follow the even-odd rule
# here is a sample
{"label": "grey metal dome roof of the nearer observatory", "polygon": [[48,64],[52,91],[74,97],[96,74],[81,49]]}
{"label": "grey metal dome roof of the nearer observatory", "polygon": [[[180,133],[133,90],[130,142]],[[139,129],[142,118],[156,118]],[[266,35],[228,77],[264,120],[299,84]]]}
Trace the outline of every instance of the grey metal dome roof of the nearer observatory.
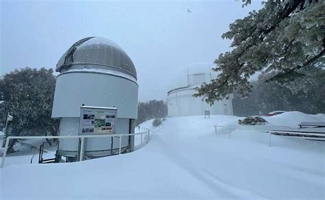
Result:
{"label": "grey metal dome roof of the nearer observatory", "polygon": [[88,37],[75,42],[56,64],[56,71],[67,71],[82,65],[119,71],[136,78],[136,68],[128,54],[106,38]]}

